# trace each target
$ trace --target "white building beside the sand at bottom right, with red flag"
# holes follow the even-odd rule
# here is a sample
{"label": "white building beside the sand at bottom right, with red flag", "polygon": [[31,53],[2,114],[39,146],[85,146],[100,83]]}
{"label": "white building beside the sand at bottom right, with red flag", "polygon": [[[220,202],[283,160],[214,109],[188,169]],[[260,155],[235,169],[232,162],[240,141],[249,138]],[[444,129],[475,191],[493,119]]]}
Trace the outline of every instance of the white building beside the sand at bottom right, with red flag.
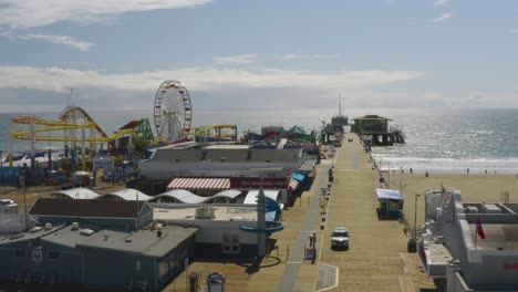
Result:
{"label": "white building beside the sand at bottom right, with red flag", "polygon": [[460,192],[426,191],[418,254],[448,292],[518,291],[518,205],[463,204]]}

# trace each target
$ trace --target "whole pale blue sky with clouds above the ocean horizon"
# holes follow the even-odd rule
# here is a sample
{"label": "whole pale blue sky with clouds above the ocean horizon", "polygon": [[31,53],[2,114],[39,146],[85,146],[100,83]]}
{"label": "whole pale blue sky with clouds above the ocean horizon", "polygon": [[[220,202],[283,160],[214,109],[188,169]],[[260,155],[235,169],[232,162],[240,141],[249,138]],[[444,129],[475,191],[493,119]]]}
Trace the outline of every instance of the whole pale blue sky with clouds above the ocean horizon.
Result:
{"label": "whole pale blue sky with clouds above the ocean horizon", "polygon": [[0,112],[518,108],[518,1],[0,0]]}

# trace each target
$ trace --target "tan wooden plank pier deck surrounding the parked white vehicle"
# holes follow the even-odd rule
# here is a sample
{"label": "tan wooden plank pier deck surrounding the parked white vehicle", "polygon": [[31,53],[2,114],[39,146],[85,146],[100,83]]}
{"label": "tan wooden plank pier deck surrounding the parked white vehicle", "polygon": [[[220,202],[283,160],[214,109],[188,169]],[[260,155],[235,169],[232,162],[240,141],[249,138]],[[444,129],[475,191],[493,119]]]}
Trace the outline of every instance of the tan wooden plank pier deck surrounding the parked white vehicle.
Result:
{"label": "tan wooden plank pier deck surrounding the parked white vehicle", "polygon": [[[335,181],[319,262],[339,268],[339,286],[329,291],[434,291],[432,281],[419,270],[416,254],[406,252],[408,238],[397,220],[377,217],[376,169],[356,136],[344,138],[334,166]],[[344,226],[350,231],[350,249],[333,251],[331,232]],[[416,272],[417,271],[417,272]]]}

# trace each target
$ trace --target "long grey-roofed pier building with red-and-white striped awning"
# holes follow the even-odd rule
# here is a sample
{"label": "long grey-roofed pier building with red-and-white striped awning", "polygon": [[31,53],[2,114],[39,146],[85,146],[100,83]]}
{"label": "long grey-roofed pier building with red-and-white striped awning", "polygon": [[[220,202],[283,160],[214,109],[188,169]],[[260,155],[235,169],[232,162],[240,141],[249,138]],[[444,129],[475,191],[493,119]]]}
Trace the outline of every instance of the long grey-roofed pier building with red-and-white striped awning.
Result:
{"label": "long grey-roofed pier building with red-and-white striped awning", "polygon": [[[237,147],[236,146],[240,146]],[[318,155],[299,149],[251,149],[230,145],[204,149],[157,149],[151,159],[139,163],[141,185],[147,195],[186,189],[200,196],[237,189],[273,189],[287,204],[294,190],[310,184]],[[153,184],[157,187],[153,189]],[[144,190],[146,189],[146,190]]]}

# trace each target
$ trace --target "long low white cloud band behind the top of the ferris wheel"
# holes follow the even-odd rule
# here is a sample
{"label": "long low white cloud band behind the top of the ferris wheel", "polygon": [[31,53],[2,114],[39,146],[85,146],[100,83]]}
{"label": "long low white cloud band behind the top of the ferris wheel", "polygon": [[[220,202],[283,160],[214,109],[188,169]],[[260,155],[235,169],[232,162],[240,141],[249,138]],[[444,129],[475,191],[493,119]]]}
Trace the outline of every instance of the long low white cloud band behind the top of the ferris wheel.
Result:
{"label": "long low white cloud band behind the top of the ferris wheel", "polygon": [[[229,70],[214,67],[184,67],[128,74],[105,74],[62,67],[0,66],[0,88],[30,88],[62,92],[66,88],[101,87],[113,90],[149,91],[164,80],[175,76],[189,90],[225,91],[234,88],[293,88],[321,87],[371,88],[421,76],[415,71],[341,71],[317,73],[277,69]],[[27,82],[30,80],[31,82]]]}

